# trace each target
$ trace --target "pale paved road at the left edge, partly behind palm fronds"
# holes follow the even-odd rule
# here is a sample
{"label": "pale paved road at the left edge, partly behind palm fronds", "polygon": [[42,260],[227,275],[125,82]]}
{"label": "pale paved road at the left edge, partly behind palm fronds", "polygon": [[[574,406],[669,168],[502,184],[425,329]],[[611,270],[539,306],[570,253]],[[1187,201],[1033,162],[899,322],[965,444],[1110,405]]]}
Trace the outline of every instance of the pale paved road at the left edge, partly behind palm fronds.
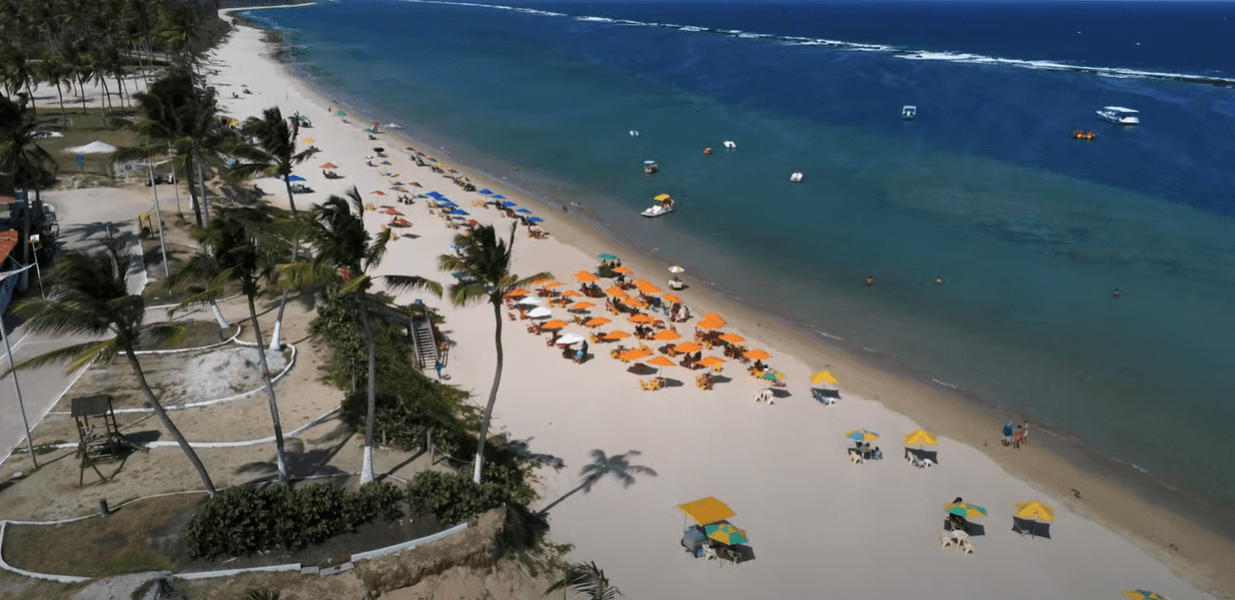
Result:
{"label": "pale paved road at the left edge, partly behind palm fronds", "polygon": [[[170,188],[164,188],[170,194]],[[44,193],[43,200],[56,206],[61,219],[61,237],[64,246],[69,248],[96,244],[104,240],[106,231],[110,230],[112,236],[130,240],[135,244],[135,252],[141,252],[136,237],[137,214],[151,212],[153,215],[154,207],[152,196],[109,188]],[[144,273],[141,270],[130,273],[130,291],[138,293],[144,284]],[[53,338],[44,335],[32,335],[20,326],[9,331],[9,343],[12,344],[14,359],[19,363],[44,352],[84,341],[88,338]],[[9,368],[9,356],[4,352],[2,346],[0,346],[0,365],[4,369]],[[42,416],[52,409],[80,374],[82,370],[64,373],[64,365],[17,373],[31,427],[35,427]],[[12,448],[23,444],[25,436],[17,396],[14,393],[12,375],[9,375],[0,381],[0,458],[7,457]],[[37,433],[35,438],[38,438]],[[0,473],[0,478],[7,478],[7,475],[9,473]]]}

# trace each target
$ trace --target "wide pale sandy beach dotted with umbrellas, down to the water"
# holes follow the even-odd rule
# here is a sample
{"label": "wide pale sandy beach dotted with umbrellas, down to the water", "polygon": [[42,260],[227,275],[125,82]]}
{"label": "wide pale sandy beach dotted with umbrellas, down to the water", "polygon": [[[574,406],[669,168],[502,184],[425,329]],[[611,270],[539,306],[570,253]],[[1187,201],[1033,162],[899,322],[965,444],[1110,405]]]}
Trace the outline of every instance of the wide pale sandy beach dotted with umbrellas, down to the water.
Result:
{"label": "wide pale sandy beach dotted with umbrellas, down to the water", "polygon": [[[450,179],[410,160],[406,146],[445,157],[440,148],[416,141],[414,130],[384,130],[378,141],[362,131],[363,115],[340,117],[337,106],[272,58],[262,32],[238,27],[214,52],[211,85],[225,110],[236,119],[278,105],[284,115],[299,112],[312,121],[301,130],[321,152],[298,170],[314,194],[298,196],[305,209],[351,186],[366,202],[394,206],[411,227],[399,232],[379,273],[416,274],[442,283],[436,257],[450,252],[458,230],[427,212],[425,200],[406,206],[394,201],[391,179],[419,181],[422,190],[451,198],[480,223],[508,232],[511,220],[493,209],[474,206],[483,195],[463,193]],[[241,91],[241,84],[251,94]],[[236,98],[232,98],[236,93]],[[406,136],[406,137],[404,137]],[[368,167],[373,147],[384,147],[393,163]],[[331,162],[342,179],[327,180],[315,169]],[[450,162],[474,180],[505,195],[545,220],[548,240],[534,240],[519,227],[515,272],[551,272],[567,285],[577,270],[593,270],[599,253],[613,253],[634,270],[664,288],[669,264],[621,247],[603,231],[553,210],[536,198],[485,180],[466,164]],[[379,174],[389,169],[390,177]],[[275,204],[284,204],[280,181],[258,180]],[[382,190],[383,195],[372,194]],[[672,217],[671,217],[672,219]],[[367,214],[371,231],[387,223],[379,211]],[[525,441],[536,453],[559,458],[559,470],[543,469],[542,506],[579,484],[579,468],[594,449],[608,456],[638,451],[634,464],[656,472],[636,475],[622,486],[601,479],[589,493],[577,493],[550,511],[552,537],[574,546],[572,558],[595,560],[630,598],[790,596],[827,590],[832,595],[890,598],[921,593],[939,598],[1119,598],[1123,589],[1151,589],[1179,598],[1230,598],[1235,590],[1235,552],[1213,528],[1161,509],[1142,496],[1094,473],[1084,457],[1063,457],[1030,436],[1020,449],[1000,446],[1000,420],[942,394],[913,377],[897,377],[835,348],[827,348],[792,325],[751,311],[709,293],[690,278],[678,295],[694,314],[719,312],[751,348],[784,374],[788,396],[774,405],[756,404],[762,388],[736,362],[710,391],[693,385],[694,373],[667,367],[664,377],[684,385],[641,391],[637,375],[609,357],[613,344],[592,346],[593,359],[574,364],[546,347],[543,335],[525,331],[529,321],[504,321],[505,365],[494,414],[494,432]],[[482,402],[494,369],[493,314],[485,305],[454,307],[424,294],[404,294],[401,302],[422,299],[446,317],[451,342],[445,372],[450,384],[472,391]],[[503,319],[505,312],[503,311]],[[556,310],[557,316],[567,316]],[[593,310],[594,315],[605,315]],[[678,323],[689,338],[693,323]],[[605,330],[613,330],[615,323]],[[626,331],[632,326],[621,323]],[[571,325],[567,332],[589,331]],[[829,369],[840,380],[841,399],[821,406],[810,398],[811,373]],[[300,374],[298,377],[314,377]],[[294,401],[290,402],[294,405]],[[851,430],[881,433],[873,443],[883,460],[852,464],[845,438]],[[939,464],[915,469],[902,459],[900,436],[925,428],[939,436]],[[1073,490],[1077,494],[1073,494]],[[750,535],[755,559],[739,565],[698,560],[678,544],[683,515],[677,505],[715,496],[734,509],[732,522]],[[984,536],[977,551],[961,556],[941,549],[942,505],[953,498],[984,506],[977,520]],[[1011,530],[1013,506],[1042,500],[1056,507],[1051,540],[1029,540]],[[1172,549],[1172,548],[1178,548]],[[972,563],[972,564],[971,564]]]}

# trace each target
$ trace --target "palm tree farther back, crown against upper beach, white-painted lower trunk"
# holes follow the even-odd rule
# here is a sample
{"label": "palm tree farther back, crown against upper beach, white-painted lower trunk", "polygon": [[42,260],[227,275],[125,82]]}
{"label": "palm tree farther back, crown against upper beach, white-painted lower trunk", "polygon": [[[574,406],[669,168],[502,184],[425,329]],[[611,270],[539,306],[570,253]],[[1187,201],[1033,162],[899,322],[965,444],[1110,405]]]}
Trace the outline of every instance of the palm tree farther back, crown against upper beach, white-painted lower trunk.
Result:
{"label": "palm tree farther back, crown against upper beach, white-painted lower trunk", "polygon": [[[283,112],[278,106],[272,106],[262,111],[262,117],[249,117],[245,121],[243,132],[252,137],[252,143],[241,146],[237,156],[248,159],[235,170],[241,174],[263,173],[279,175],[283,185],[288,190],[288,206],[291,207],[291,217],[296,219],[296,199],[291,193],[291,169],[317,153],[317,148],[296,152],[296,136],[300,133],[299,119],[283,119]],[[291,262],[300,254],[300,240],[291,240]],[[279,299],[279,312],[274,317],[274,333],[270,336],[270,349],[282,347],[279,335],[283,331],[283,311],[288,306],[288,290],[283,290]]]}

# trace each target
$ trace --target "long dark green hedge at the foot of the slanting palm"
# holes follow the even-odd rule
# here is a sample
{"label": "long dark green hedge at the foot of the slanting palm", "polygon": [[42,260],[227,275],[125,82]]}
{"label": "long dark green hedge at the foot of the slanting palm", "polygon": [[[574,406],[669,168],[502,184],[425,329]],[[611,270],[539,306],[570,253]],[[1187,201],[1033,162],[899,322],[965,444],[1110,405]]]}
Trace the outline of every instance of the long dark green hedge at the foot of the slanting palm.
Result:
{"label": "long dark green hedge at the foot of the slanting palm", "polygon": [[403,500],[403,491],[387,483],[371,483],[354,493],[330,484],[231,488],[206,500],[182,535],[195,558],[274,548],[296,552],[378,517],[400,519]]}

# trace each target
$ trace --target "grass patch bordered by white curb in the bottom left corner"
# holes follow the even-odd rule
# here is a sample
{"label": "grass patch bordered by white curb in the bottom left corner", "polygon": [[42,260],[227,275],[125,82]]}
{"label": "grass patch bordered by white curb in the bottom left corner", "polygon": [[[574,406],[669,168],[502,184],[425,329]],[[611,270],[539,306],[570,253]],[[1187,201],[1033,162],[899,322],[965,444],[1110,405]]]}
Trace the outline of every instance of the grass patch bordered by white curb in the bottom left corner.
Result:
{"label": "grass patch bordered by white curb in the bottom left corner", "polygon": [[200,494],[141,500],[106,517],[68,525],[10,525],[4,557],[28,570],[65,575],[119,575],[172,567],[170,540],[203,499]]}

